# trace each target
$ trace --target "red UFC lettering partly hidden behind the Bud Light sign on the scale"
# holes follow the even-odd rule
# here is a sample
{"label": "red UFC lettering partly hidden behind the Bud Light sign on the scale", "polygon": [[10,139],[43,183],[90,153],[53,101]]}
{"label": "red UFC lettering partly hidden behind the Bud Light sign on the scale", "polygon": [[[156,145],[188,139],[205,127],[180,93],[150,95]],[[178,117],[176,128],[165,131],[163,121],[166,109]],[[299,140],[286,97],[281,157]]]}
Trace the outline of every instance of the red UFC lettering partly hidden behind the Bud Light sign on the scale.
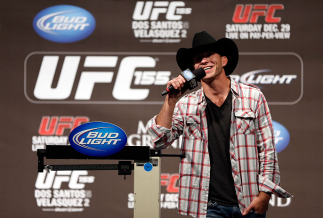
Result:
{"label": "red UFC lettering partly hidden behind the Bud Light sign on the scale", "polygon": [[88,117],[44,116],[40,122],[39,135],[63,135],[65,129],[73,130],[82,123],[88,123]]}

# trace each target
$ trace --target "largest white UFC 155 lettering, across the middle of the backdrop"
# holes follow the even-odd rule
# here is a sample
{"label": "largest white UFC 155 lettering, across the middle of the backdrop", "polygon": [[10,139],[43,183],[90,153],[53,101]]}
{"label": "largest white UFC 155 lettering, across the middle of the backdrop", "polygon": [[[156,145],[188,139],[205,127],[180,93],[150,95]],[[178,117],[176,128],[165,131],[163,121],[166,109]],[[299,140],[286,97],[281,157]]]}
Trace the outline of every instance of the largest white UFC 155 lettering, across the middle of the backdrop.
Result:
{"label": "largest white UFC 155 lettering, across the middle of the backdrop", "polygon": [[[56,72],[59,59],[63,58],[60,73]],[[58,55],[43,56],[39,74],[33,91],[34,96],[40,100],[64,100],[71,96],[76,85],[75,100],[90,100],[96,84],[110,84],[115,77],[112,96],[117,100],[144,100],[149,95],[149,89],[131,88],[134,85],[166,85],[171,75],[170,71],[136,71],[136,68],[153,68],[156,60],[149,56],[128,56],[120,61],[119,70],[115,73],[118,56],[81,56]],[[79,68],[79,80],[76,75]],[[91,68],[102,69],[93,71]],[[59,75],[57,86],[53,87],[54,77]],[[76,84],[75,84],[76,83]],[[111,85],[110,85],[111,86]],[[107,94],[105,94],[107,95]]]}

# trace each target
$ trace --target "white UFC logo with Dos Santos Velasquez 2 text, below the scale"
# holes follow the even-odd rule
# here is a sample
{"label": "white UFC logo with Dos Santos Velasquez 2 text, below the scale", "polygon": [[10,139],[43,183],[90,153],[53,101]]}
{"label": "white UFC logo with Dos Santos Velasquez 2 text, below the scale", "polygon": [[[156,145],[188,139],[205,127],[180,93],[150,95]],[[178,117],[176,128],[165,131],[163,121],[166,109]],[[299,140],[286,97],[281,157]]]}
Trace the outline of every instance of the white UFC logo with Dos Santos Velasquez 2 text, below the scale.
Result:
{"label": "white UFC logo with Dos Santos Velasquez 2 text, below the scale", "polygon": [[92,190],[84,190],[85,184],[94,180],[86,170],[38,173],[34,193],[37,206],[47,212],[82,212],[92,198]]}

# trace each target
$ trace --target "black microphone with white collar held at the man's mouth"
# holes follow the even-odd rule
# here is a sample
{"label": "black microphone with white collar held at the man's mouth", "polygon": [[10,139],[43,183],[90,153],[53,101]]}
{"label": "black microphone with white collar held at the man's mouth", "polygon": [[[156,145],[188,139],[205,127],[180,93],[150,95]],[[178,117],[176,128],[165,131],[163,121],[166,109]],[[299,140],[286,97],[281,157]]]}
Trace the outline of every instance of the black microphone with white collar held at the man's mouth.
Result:
{"label": "black microphone with white collar held at the man's mouth", "polygon": [[[184,87],[187,87],[189,90],[192,90],[197,87],[197,81],[200,81],[203,77],[205,77],[205,71],[203,68],[199,68],[191,72],[189,69],[181,72],[181,75],[186,80]],[[167,95],[171,91],[176,90],[173,86],[167,87],[163,92],[162,96]]]}

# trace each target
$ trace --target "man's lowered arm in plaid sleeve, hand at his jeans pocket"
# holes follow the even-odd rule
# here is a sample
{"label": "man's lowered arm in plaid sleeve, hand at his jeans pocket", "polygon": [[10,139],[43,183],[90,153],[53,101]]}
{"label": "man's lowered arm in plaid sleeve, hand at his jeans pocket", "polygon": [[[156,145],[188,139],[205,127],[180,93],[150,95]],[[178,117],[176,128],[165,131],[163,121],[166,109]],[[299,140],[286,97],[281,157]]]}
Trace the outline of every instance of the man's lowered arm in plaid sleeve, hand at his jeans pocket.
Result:
{"label": "man's lowered arm in plaid sleeve, hand at his jeans pocket", "polygon": [[255,210],[257,213],[265,213],[268,209],[271,194],[276,194],[278,197],[291,197],[288,192],[280,187],[272,119],[266,99],[261,92],[256,110],[255,128],[259,162],[259,195],[251,202],[243,215],[248,214],[251,210]]}

